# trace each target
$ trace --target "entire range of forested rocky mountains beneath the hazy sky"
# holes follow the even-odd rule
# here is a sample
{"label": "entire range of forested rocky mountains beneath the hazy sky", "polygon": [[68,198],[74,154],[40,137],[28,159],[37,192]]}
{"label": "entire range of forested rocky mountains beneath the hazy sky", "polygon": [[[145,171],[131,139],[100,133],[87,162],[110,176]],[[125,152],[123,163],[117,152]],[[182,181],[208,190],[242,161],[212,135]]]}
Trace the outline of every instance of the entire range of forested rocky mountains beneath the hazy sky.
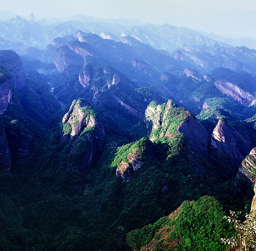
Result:
{"label": "entire range of forested rocky mountains beneath the hazy sky", "polygon": [[231,248],[224,216],[255,209],[256,50],[136,19],[0,27],[1,250]]}

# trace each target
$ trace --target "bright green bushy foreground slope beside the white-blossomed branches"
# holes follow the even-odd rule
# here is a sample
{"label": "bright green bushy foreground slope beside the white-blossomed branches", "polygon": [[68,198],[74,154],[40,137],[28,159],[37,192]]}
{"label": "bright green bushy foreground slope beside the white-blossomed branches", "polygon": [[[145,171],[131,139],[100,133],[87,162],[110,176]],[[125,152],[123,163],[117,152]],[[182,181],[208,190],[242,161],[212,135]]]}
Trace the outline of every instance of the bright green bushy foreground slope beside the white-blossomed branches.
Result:
{"label": "bright green bushy foreground slope beside the white-blossomed branches", "polygon": [[133,250],[225,250],[220,238],[230,238],[234,229],[213,197],[184,201],[169,216],[127,234]]}

